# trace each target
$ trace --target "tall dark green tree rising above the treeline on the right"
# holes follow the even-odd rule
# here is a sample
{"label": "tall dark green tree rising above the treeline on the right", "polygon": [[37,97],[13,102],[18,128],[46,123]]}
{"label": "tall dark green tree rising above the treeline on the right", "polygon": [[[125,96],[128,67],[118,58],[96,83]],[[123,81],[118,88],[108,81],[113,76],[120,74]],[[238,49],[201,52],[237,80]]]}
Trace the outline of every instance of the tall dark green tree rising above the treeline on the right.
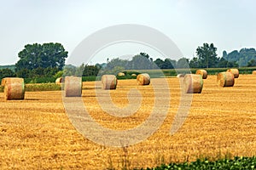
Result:
{"label": "tall dark green tree rising above the treeline on the right", "polygon": [[218,57],[216,54],[217,48],[213,43],[203,43],[202,47],[196,48],[196,54],[200,60],[200,66],[202,68],[212,68],[218,66]]}

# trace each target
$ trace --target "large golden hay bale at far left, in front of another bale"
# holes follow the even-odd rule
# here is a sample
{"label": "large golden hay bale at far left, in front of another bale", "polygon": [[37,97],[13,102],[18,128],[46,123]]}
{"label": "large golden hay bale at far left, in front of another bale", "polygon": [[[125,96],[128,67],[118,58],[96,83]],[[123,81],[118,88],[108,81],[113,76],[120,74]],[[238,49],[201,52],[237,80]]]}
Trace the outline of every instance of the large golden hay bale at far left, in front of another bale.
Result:
{"label": "large golden hay bale at far left, in front of another bale", "polygon": [[24,99],[24,79],[17,77],[4,78],[3,93],[5,99]]}

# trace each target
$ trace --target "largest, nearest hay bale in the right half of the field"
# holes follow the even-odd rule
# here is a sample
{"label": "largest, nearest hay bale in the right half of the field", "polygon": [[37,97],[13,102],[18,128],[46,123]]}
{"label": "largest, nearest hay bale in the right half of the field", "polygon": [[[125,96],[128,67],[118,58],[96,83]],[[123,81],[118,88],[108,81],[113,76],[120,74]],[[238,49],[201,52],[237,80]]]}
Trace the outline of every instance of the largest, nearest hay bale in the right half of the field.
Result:
{"label": "largest, nearest hay bale in the right half of the field", "polygon": [[186,74],[184,77],[184,92],[186,94],[201,94],[203,79],[201,75]]}

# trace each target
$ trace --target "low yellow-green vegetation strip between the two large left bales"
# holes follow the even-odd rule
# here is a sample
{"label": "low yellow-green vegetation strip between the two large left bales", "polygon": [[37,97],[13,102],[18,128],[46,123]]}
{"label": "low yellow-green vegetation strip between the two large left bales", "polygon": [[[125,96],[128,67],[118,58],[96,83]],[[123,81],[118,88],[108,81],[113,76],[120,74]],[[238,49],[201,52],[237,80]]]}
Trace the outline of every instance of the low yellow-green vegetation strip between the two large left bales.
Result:
{"label": "low yellow-green vegetation strip between the two large left bales", "polygon": [[35,91],[57,91],[61,90],[61,86],[55,83],[41,83],[41,84],[26,84],[26,92],[35,92]]}

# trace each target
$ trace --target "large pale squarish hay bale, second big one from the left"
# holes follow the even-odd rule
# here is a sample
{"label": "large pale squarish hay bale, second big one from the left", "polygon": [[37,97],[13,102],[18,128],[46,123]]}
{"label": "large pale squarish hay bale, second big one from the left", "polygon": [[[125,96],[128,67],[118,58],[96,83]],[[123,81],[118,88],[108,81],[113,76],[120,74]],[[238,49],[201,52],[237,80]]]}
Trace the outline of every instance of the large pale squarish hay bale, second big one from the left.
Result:
{"label": "large pale squarish hay bale, second big one from the left", "polygon": [[66,97],[82,95],[82,77],[65,77],[64,92]]}

